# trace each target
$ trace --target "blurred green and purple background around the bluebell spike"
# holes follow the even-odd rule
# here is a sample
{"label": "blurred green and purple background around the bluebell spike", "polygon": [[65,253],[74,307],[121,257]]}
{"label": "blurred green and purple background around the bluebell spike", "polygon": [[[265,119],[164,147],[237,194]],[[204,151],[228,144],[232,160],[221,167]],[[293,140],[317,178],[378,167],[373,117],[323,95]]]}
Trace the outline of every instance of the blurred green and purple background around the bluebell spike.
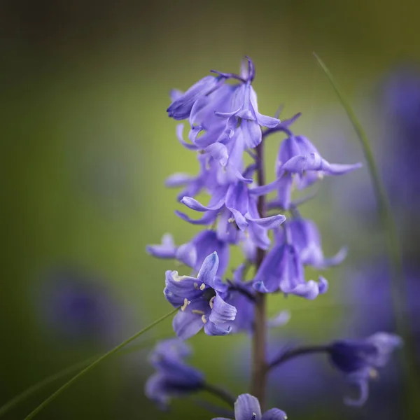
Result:
{"label": "blurred green and purple background around the bluebell spike", "polygon": [[[167,118],[168,93],[210,69],[239,71],[244,55],[255,62],[260,111],[273,115],[283,104],[283,118],[302,112],[295,132],[330,162],[363,155],[312,51],[349,95],[398,217],[407,314],[419,328],[419,13],[411,0],[1,1],[0,404],[169,311],[162,289],[173,262],[153,259],[145,246],[165,232],[182,244],[199,228],[174,215],[176,191],[164,187],[173,172],[197,171]],[[280,140],[268,146],[269,178]],[[292,315],[272,332],[274,351],[290,339],[322,343],[395,329],[367,170],[320,187],[302,213],[318,224],[325,255],[346,244],[349,257],[325,272],[330,292],[315,302],[270,300],[270,314]],[[139,338],[141,349],[97,367],[38,418],[211,419],[193,398],[161,413],[144,397],[151,339],[170,335],[167,319]],[[247,390],[248,337],[200,334],[190,344],[209,381]],[[24,418],[62,383],[4,418]],[[270,406],[295,420],[409,418],[396,365],[370,388],[365,407],[344,407],[342,377],[322,357],[302,358],[272,375]]]}

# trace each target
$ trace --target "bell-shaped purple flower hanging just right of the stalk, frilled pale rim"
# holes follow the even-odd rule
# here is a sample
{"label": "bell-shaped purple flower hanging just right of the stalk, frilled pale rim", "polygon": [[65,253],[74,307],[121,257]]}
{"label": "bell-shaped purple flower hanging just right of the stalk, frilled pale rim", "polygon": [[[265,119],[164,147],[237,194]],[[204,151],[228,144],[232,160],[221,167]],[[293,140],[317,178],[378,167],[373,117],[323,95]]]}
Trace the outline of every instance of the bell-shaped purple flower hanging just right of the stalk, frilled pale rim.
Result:
{"label": "bell-shaped purple flower hanging just right of the stalk, frilled pale rim", "polygon": [[304,279],[304,269],[295,246],[275,245],[265,256],[253,280],[253,287],[262,293],[281,291],[286,295],[315,299],[328,290],[328,281],[319,276],[319,282]]}

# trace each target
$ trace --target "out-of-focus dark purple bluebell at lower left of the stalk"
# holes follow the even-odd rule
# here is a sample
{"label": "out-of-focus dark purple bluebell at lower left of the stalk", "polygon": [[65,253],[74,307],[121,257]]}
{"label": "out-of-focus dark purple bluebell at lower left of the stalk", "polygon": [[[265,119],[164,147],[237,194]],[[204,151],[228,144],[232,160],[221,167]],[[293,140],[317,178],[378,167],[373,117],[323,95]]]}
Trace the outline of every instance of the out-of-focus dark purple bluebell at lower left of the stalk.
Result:
{"label": "out-of-focus dark purple bluebell at lower left of the stalk", "polygon": [[200,391],[204,386],[204,375],[194,367],[186,365],[184,359],[191,350],[179,339],[158,342],[149,356],[157,372],[146,382],[146,396],[165,409],[172,397]]}

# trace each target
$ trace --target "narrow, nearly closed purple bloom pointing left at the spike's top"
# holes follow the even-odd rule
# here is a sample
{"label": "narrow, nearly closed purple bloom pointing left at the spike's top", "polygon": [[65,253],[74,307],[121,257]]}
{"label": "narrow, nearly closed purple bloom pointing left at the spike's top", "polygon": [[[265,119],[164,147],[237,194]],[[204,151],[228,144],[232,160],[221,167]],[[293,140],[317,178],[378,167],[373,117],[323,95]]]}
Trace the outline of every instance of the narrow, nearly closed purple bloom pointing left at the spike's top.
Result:
{"label": "narrow, nearly closed purple bloom pointing left at the spike's top", "polygon": [[190,117],[196,102],[216,89],[221,77],[206,76],[191,86],[185,93],[176,95],[176,99],[167,109],[168,116],[174,120],[185,120]]}

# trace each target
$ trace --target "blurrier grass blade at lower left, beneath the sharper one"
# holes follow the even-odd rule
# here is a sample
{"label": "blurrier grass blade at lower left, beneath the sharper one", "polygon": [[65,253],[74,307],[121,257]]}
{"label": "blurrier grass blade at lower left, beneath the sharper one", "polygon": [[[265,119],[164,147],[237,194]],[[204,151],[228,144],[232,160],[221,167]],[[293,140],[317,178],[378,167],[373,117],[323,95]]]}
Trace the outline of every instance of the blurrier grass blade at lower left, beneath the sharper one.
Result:
{"label": "blurrier grass blade at lower left, beneath the sharper one", "polygon": [[[165,335],[164,337],[153,337],[151,339],[145,340],[144,342],[141,342],[141,344],[137,344],[136,346],[132,346],[129,349],[120,351],[120,355],[123,356],[125,354],[133,353],[134,351],[145,349],[146,347],[154,344],[158,339],[167,338],[167,337],[169,337],[169,335]],[[49,377],[46,377],[42,379],[41,381],[38,381],[36,384],[29,386],[29,388],[25,389],[25,391],[23,391],[19,395],[16,395],[14,398],[12,398],[8,402],[6,402],[6,404],[0,407],[0,417],[2,417],[4,414],[6,414],[8,411],[10,411],[10,409],[18,405],[20,402],[26,400],[37,391],[40,391],[45,386],[52,384],[52,382],[55,382],[58,379],[61,379],[62,377],[66,377],[68,374],[77,372],[79,369],[82,369],[86,365],[89,365],[90,363],[94,362],[94,360],[96,360],[99,356],[101,355],[98,354],[97,356],[92,356],[88,359],[82,360],[81,362],[78,362],[78,363],[75,363],[74,365],[66,367],[63,370],[60,370],[59,372],[56,372],[55,374],[52,374]]]}

